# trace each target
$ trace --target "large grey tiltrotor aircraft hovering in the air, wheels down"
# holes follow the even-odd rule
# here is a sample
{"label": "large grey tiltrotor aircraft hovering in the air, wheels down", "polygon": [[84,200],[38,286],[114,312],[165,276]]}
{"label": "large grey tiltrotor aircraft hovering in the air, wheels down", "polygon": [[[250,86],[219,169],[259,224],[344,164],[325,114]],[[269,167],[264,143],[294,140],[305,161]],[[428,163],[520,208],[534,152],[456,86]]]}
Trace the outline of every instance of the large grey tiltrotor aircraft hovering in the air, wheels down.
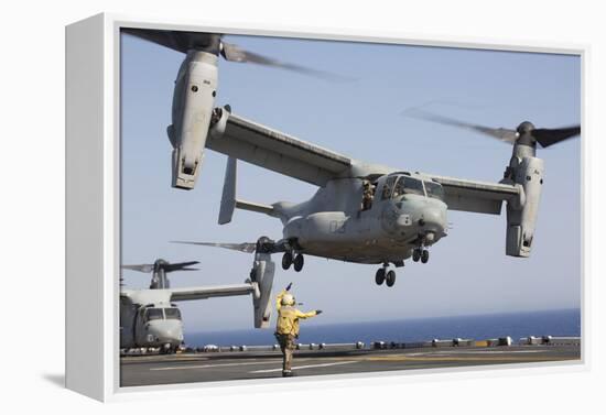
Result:
{"label": "large grey tiltrotor aircraft hovering in the air, wheels down", "polygon": [[[173,124],[173,186],[191,189],[203,161],[204,148],[229,156],[219,223],[231,221],[235,208],[262,212],[284,226],[279,241],[261,238],[257,243],[208,243],[245,252],[283,252],[282,267],[303,269],[303,254],[348,262],[382,264],[377,284],[392,286],[396,273],[389,265],[404,260],[429,261],[428,247],[446,236],[446,211],[463,210],[499,215],[507,203],[506,253],[529,256],[533,243],[539,199],[543,185],[542,148],[578,135],[580,125],[537,129],[528,121],[516,130],[465,123],[444,117],[433,121],[488,134],[513,145],[509,165],[499,183],[486,183],[408,172],[353,160],[299,140],[272,128],[213,108],[219,55],[228,61],[252,62],[288,69],[312,69],[281,64],[221,42],[220,35],[178,31],[129,30],[128,33],[185,52],[175,81]],[[201,94],[202,92],[202,94]],[[272,205],[236,198],[236,159],[320,187],[299,204]]]}

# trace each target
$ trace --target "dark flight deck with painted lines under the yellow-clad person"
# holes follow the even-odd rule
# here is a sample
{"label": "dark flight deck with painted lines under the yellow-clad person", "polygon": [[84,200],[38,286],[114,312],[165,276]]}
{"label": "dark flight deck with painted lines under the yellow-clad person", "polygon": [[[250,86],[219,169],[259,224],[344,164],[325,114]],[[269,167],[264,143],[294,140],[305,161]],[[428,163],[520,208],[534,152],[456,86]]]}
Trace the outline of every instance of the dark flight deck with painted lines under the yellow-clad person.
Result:
{"label": "dark flight deck with painted lines under the yellow-clad person", "polygon": [[[293,371],[296,376],[310,376],[581,360],[580,341],[511,346],[493,346],[490,342],[466,345],[468,346],[448,346],[434,340],[424,347],[415,345],[418,347],[407,348],[393,343],[375,343],[368,348],[360,348],[356,343],[349,348],[302,348],[295,351]],[[250,349],[252,350],[242,348],[235,351],[217,349],[171,356],[125,356],[120,365],[121,386],[281,376],[282,356],[279,350]]]}

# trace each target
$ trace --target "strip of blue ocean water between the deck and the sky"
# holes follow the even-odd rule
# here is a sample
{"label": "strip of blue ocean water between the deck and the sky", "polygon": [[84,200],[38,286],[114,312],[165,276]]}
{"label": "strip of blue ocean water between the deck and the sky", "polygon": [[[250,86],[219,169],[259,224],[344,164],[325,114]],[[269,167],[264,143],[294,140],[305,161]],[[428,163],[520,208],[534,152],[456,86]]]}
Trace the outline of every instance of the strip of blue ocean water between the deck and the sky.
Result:
{"label": "strip of blue ocean water between the deck and the sky", "polygon": [[[424,341],[431,339],[489,339],[511,336],[517,341],[528,336],[581,336],[581,310],[560,309],[490,314],[479,316],[432,317],[391,321],[364,321],[333,325],[301,324],[299,341],[354,342]],[[273,345],[273,328],[185,334],[187,346]]]}

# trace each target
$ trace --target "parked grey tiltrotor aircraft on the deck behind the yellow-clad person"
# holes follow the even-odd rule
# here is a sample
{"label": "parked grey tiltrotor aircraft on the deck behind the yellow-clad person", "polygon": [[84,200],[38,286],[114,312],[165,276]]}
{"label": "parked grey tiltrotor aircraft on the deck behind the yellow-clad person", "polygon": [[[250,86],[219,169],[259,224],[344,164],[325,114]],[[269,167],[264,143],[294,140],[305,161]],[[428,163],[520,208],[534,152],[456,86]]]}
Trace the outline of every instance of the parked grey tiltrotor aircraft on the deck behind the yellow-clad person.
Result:
{"label": "parked grey tiltrotor aircraft on the deck behind the yellow-clad person", "polygon": [[273,283],[273,262],[269,255],[258,254],[244,284],[171,288],[167,273],[195,271],[197,261],[122,265],[125,270],[152,273],[149,290],[120,290],[120,348],[159,348],[172,353],[183,343],[183,323],[176,302],[252,295],[255,327],[266,328],[271,314],[270,298]]}

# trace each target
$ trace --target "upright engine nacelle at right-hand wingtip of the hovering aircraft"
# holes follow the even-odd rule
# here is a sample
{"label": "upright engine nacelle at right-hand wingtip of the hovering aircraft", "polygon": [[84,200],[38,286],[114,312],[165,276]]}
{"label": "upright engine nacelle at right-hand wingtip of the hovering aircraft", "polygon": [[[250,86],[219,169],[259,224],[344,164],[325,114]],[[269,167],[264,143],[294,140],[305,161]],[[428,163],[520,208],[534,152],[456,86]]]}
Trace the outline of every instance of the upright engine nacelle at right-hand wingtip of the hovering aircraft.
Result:
{"label": "upright engine nacelle at right-hand wingtip of the hovering aircraft", "polygon": [[534,156],[534,149],[515,145],[513,156],[505,173],[506,183],[521,186],[520,198],[507,204],[506,253],[511,256],[530,256],[539,200],[543,185],[544,164]]}

